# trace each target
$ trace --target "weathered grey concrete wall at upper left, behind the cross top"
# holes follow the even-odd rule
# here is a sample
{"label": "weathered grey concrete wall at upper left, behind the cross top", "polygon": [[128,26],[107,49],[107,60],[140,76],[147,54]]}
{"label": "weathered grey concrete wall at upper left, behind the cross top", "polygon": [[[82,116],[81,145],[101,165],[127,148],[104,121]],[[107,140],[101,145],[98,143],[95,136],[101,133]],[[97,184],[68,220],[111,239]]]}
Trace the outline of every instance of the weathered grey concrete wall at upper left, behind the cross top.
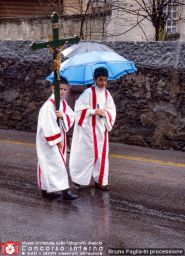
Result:
{"label": "weathered grey concrete wall at upper left, behind the cross top", "polygon": [[[85,39],[102,40],[102,34],[106,17],[96,19],[89,16],[84,23]],[[61,19],[61,36],[80,35],[81,19],[78,16],[64,17]],[[0,19],[0,40],[47,40],[52,33],[50,17],[33,18],[1,18]]]}

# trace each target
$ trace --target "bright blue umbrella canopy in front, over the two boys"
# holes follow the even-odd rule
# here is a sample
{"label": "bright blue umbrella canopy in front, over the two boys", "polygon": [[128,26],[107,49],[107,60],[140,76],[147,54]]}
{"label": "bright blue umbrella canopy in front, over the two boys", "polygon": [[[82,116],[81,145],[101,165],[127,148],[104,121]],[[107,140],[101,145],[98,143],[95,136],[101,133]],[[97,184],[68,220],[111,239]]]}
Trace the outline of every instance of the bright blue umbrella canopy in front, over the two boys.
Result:
{"label": "bright blue umbrella canopy in front, over the two boys", "polygon": [[[69,84],[92,84],[94,70],[98,67],[108,69],[108,80],[118,79],[137,70],[132,61],[128,61],[113,50],[90,51],[64,61],[60,66],[60,75],[65,76]],[[53,77],[52,72],[46,79],[52,82]]]}

